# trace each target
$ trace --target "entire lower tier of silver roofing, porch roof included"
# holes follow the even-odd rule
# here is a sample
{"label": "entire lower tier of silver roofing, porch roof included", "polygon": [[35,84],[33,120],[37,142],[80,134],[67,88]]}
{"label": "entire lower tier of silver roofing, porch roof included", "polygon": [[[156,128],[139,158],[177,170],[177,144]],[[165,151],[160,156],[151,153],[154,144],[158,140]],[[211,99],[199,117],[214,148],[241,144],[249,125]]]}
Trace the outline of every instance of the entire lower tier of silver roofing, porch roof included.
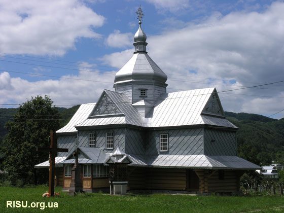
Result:
{"label": "entire lower tier of silver roofing, porch roof included", "polygon": [[[79,147],[79,163],[105,164],[111,154],[103,152],[100,148]],[[207,155],[133,155],[125,154],[131,160],[131,165],[154,167],[179,167],[179,168],[208,168],[208,169],[261,169],[260,166],[237,156],[207,156]],[[75,159],[56,157],[55,164],[73,164]],[[48,167],[49,161],[37,164],[35,168]]]}

